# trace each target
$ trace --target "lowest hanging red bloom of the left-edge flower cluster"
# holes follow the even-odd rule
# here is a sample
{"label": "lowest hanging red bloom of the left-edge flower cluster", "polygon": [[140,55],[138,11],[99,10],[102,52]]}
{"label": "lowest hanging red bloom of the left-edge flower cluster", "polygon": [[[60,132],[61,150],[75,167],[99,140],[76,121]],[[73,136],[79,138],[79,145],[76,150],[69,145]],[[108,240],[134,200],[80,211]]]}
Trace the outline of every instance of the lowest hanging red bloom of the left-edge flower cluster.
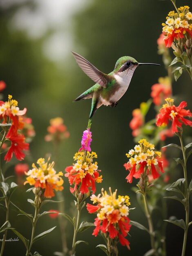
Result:
{"label": "lowest hanging red bloom of the left-edge flower cluster", "polygon": [[29,143],[25,143],[25,137],[21,134],[18,134],[15,137],[8,137],[8,139],[11,141],[11,146],[5,155],[4,160],[9,162],[13,156],[13,153],[18,160],[23,160],[25,154],[22,152],[22,150],[29,150]]}

